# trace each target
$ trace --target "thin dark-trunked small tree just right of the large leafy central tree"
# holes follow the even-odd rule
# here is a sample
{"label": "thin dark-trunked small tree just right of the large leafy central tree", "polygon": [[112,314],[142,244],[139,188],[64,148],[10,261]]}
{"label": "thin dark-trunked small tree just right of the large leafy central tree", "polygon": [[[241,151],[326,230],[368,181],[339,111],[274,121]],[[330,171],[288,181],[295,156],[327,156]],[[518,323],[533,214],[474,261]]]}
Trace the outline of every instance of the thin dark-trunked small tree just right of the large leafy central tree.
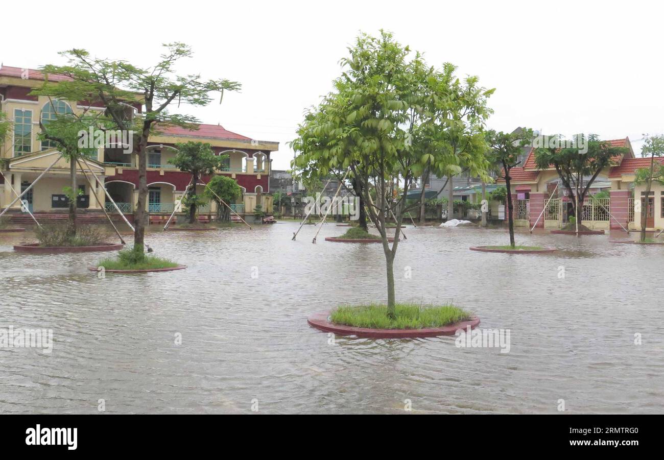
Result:
{"label": "thin dark-trunked small tree just right of the large leafy central tree", "polygon": [[509,244],[514,248],[514,204],[512,202],[512,193],[510,189],[511,177],[509,171],[517,166],[521,147],[531,145],[533,142],[533,130],[521,129],[513,133],[496,132],[493,129],[487,132],[487,142],[489,143],[489,163],[491,165],[499,164],[503,167],[499,177],[505,179],[505,194],[507,195],[507,219],[509,222]]}

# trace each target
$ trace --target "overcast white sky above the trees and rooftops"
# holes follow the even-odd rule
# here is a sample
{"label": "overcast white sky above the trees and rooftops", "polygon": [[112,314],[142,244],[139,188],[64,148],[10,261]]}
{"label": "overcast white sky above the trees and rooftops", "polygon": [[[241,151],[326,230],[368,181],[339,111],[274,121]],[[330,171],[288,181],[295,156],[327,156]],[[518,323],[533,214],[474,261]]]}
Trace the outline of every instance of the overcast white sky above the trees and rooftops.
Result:
{"label": "overcast white sky above the trees and rooftops", "polygon": [[[148,66],[161,43],[185,42],[195,56],[182,74],[237,80],[242,92],[180,111],[280,142],[275,169],[289,167],[286,142],[303,110],[331,89],[347,46],[359,31],[381,28],[430,65],[452,62],[460,76],[497,88],[491,128],[632,141],[664,132],[664,7],[655,2],[116,0],[26,8],[3,5],[4,64],[62,63],[56,53],[76,47]],[[633,142],[637,155],[640,145]]]}

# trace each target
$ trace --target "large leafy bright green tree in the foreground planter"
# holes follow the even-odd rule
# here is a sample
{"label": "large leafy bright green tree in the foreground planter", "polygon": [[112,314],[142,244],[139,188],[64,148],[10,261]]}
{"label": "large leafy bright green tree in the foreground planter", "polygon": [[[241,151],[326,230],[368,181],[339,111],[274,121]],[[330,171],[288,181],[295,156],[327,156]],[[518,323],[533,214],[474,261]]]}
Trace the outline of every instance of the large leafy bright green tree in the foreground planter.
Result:
{"label": "large leafy bright green tree in the foreground planter", "polygon": [[[477,87],[475,77],[460,84],[451,64],[443,71],[430,68],[420,53],[410,56],[408,46],[384,31],[380,37],[361,35],[349,54],[334,91],[299,126],[293,165],[323,176],[349,168],[362,186],[382,240],[387,311],[394,317],[394,257],[407,194],[393,200],[390,184],[398,178],[406,191],[425,171],[458,173],[464,166],[487,177],[481,147],[487,112],[481,107],[491,91]],[[461,86],[472,86],[479,98],[458,100],[455,88]],[[390,211],[397,224],[391,247],[385,226]]]}

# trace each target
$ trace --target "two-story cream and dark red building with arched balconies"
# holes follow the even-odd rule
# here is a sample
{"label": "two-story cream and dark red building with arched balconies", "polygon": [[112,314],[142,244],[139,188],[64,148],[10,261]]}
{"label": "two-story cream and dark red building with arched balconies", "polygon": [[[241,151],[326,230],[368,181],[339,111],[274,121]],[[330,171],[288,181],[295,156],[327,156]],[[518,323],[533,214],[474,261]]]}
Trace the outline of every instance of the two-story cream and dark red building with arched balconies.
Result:
{"label": "two-story cream and dark red building with arched balconies", "polygon": [[[66,80],[64,76],[49,75],[50,81]],[[64,188],[69,185],[69,162],[60,158],[60,152],[49,141],[39,141],[40,120],[48,123],[56,114],[80,114],[84,110],[104,110],[102,106],[86,106],[81,102],[49,100],[45,96],[29,93],[40,86],[44,75],[38,70],[17,67],[0,67],[0,110],[13,121],[11,133],[0,145],[0,206],[5,207],[31,185],[44,170],[48,172],[24,196],[23,203],[11,208],[13,214],[25,212],[25,208],[41,218],[66,213],[68,207]],[[173,212],[179,198],[185,192],[191,175],[169,164],[175,156],[177,143],[201,141],[210,144],[218,155],[228,155],[218,174],[234,179],[242,189],[242,197],[231,206],[238,214],[252,214],[258,204],[267,212],[272,211],[270,195],[270,155],[277,151],[278,142],[257,141],[224,129],[221,125],[199,125],[196,130],[181,127],[163,127],[149,138],[147,147],[147,182],[149,197],[146,204],[151,214]],[[96,157],[87,160],[89,168],[102,180],[106,190],[120,206],[122,212],[132,214],[138,199],[138,169],[136,156],[125,154],[122,149],[98,149]],[[88,169],[88,165],[85,166]],[[82,191],[79,205],[84,212],[100,213],[102,206],[115,211],[104,191],[93,183],[88,185],[83,171],[77,171],[77,183]],[[89,171],[89,169],[88,169]],[[88,177],[90,173],[88,172]],[[201,177],[197,192],[201,192],[209,177]],[[205,206],[201,213],[216,212],[215,204]]]}

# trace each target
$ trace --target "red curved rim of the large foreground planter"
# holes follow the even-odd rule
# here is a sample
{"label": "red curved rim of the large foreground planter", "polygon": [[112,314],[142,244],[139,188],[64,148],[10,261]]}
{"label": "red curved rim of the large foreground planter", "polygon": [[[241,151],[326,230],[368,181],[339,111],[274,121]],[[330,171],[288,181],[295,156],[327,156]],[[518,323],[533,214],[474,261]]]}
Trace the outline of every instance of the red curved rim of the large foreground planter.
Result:
{"label": "red curved rim of the large foreground planter", "polygon": [[357,335],[357,337],[369,337],[370,339],[418,339],[421,337],[436,337],[438,335],[454,335],[457,330],[471,329],[479,325],[479,318],[473,317],[470,321],[461,321],[449,326],[429,327],[426,329],[371,329],[369,327],[354,327],[338,325],[329,321],[330,311],[319,311],[307,318],[311,327],[321,331],[331,332],[339,335]]}

